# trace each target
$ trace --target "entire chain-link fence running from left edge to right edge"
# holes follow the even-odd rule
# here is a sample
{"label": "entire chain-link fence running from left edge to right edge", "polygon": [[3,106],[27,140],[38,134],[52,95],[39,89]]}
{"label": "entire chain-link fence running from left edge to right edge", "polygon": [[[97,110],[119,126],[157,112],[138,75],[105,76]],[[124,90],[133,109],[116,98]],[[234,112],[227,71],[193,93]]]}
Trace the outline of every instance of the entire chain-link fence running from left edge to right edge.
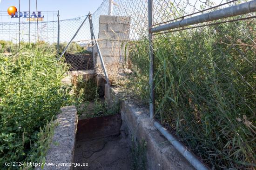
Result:
{"label": "entire chain-link fence running from left edge to right edge", "polygon": [[[255,9],[256,0],[103,0],[91,25],[87,15],[60,20],[59,52],[70,70],[104,76],[100,49],[111,83],[149,104],[151,118],[204,163],[255,169]],[[0,39],[17,41],[17,23],[4,24]],[[33,25],[31,41],[57,46],[57,19],[41,22],[39,31]]]}

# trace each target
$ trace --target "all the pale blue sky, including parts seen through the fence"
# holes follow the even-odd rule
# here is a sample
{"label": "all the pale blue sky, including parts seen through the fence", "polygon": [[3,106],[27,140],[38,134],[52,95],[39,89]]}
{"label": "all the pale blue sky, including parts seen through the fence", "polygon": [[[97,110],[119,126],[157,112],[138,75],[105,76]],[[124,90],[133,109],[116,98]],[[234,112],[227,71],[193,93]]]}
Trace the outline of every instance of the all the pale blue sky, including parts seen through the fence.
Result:
{"label": "all the pale blue sky, including parts seen through the fence", "polygon": [[[23,41],[27,41],[29,38],[32,41],[36,41],[38,37],[40,40],[44,40],[47,42],[55,42],[57,39],[57,13],[46,12],[46,11],[58,11],[60,10],[60,20],[64,20],[60,22],[60,41],[68,42],[74,35],[74,33],[81,26],[82,21],[84,20],[81,16],[85,16],[91,11],[97,10],[100,7],[101,3],[104,0],[37,0],[38,3],[38,11],[42,11],[42,15],[44,15],[44,22],[28,22],[27,18],[20,18],[20,26],[19,18],[11,18],[7,14],[7,9],[10,6],[15,6],[19,10],[19,0],[0,0],[0,39],[9,40],[9,41],[17,41],[21,38]],[[132,0],[132,2],[140,2],[140,3],[131,3],[131,0],[114,0],[114,12],[116,15],[128,15],[132,16],[136,19],[136,17],[143,16],[140,13],[146,13],[145,10],[147,7],[147,0]],[[174,0],[169,0],[171,2]],[[186,1],[186,0],[184,0]],[[206,0],[189,0],[189,6],[186,8],[188,13],[190,13],[190,8],[196,7],[196,9],[200,9],[200,5]],[[214,0],[216,5],[220,2],[224,2],[226,0]],[[30,0],[30,11],[36,12],[36,0]],[[155,2],[161,2],[155,0]],[[165,0],[167,2],[167,0]],[[141,10],[141,7],[144,9]],[[115,11],[115,9],[117,9]],[[127,10],[128,9],[128,10]],[[158,8],[157,8],[158,9]],[[167,8],[168,9],[168,8]],[[163,9],[158,9],[161,11]],[[20,0],[20,12],[28,12],[29,11],[29,0]],[[107,14],[108,11],[108,2],[105,3],[104,7],[99,11],[100,15]],[[121,13],[121,14],[120,14]],[[161,14],[161,13],[160,13]],[[76,20],[68,20],[78,18]],[[97,33],[98,27],[98,15],[95,15],[96,18],[93,17],[94,28],[97,29],[95,32]],[[33,18],[33,17],[32,17]],[[159,16],[161,18],[161,16]],[[134,19],[134,21],[135,21]],[[161,18],[162,20],[162,18]],[[54,22],[47,22],[54,21]],[[29,23],[29,24],[28,24]],[[134,24],[134,30],[138,27],[138,23]],[[140,25],[143,23],[140,23]],[[140,26],[139,26],[140,27]],[[146,26],[147,27],[147,26]],[[30,29],[29,29],[30,28]],[[132,28],[131,28],[132,29]],[[132,31],[131,31],[132,32]],[[29,36],[28,36],[29,35]],[[75,37],[75,41],[81,41],[90,39],[90,30],[89,23],[85,22],[85,24],[81,27],[81,30]]]}

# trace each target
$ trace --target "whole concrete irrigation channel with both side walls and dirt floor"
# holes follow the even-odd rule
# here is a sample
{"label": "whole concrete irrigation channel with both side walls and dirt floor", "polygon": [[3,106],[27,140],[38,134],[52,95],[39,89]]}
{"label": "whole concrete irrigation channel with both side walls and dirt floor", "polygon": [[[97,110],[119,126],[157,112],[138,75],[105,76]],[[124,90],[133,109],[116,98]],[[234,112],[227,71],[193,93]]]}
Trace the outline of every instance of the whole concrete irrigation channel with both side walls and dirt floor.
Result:
{"label": "whole concrete irrigation channel with both side walls and dirt floor", "polygon": [[[76,73],[92,72],[72,74]],[[94,78],[105,84],[98,76]],[[63,82],[71,80],[65,78]],[[122,99],[122,94],[119,89],[105,84],[104,99],[108,107],[119,105],[119,113],[115,115],[85,119],[78,118],[74,106],[61,108],[46,161],[73,164],[47,166],[44,170],[193,170],[155,128],[148,117],[148,108]]]}

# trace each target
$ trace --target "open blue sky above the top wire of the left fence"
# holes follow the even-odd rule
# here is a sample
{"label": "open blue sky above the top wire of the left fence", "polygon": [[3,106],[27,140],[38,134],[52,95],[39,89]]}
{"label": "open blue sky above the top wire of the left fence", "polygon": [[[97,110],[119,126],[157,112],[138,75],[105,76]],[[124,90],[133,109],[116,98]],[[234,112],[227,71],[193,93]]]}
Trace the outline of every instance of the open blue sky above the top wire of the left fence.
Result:
{"label": "open blue sky above the top wire of the left fence", "polygon": [[[92,13],[103,0],[37,0],[38,11],[60,10],[61,20],[71,19]],[[30,0],[30,11],[36,11],[36,0]],[[10,6],[19,7],[19,0],[0,0],[0,11],[7,11]],[[28,11],[29,0],[20,0],[20,11]],[[19,9],[18,9],[19,10]]]}

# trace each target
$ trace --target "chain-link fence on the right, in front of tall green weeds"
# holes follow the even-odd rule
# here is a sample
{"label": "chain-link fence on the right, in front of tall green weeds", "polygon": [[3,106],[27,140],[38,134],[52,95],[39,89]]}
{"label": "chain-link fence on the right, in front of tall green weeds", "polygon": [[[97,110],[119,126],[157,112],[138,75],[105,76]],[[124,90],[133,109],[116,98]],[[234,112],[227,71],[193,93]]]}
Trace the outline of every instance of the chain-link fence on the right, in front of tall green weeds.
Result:
{"label": "chain-link fence on the right, in front of tall green weeds", "polygon": [[[256,163],[255,1],[237,6],[243,3],[153,0],[149,33],[154,36],[151,73],[155,85],[148,86],[148,4],[144,0],[113,2],[113,15],[130,17],[127,46],[121,46],[128,51],[128,63],[124,63],[128,69],[119,62],[107,71],[114,73],[115,80],[127,71],[125,90],[141,102],[148,103],[150,98],[155,104],[153,116],[212,169],[253,169]],[[193,21],[195,16],[227,7],[236,9]],[[97,25],[100,15],[108,14],[108,1],[95,13]],[[164,29],[167,24],[169,28]],[[149,97],[150,87],[155,97]]]}

